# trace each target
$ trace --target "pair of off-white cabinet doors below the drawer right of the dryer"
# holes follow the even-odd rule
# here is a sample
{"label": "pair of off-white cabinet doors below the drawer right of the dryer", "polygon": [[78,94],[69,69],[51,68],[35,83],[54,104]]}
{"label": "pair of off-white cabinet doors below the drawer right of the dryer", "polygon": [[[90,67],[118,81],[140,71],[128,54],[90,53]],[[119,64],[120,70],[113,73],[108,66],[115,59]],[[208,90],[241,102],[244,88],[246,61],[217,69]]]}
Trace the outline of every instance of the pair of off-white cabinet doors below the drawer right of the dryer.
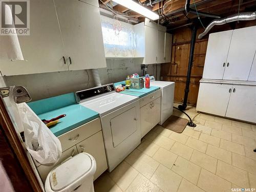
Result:
{"label": "pair of off-white cabinet doors below the drawer right of the dryer", "polygon": [[[154,96],[151,96],[154,99]],[[160,121],[161,98],[148,102],[140,108],[141,138],[144,137]]]}

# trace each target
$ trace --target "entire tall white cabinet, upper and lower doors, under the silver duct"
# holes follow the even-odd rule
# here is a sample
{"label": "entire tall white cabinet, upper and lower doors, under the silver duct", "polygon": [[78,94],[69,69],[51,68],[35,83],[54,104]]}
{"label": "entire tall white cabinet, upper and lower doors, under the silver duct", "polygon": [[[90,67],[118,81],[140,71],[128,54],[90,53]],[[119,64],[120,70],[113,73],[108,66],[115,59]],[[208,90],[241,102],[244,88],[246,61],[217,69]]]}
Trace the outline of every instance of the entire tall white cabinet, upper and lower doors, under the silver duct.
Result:
{"label": "entire tall white cabinet, upper and lower doors, under the silver duct", "polygon": [[197,111],[256,123],[256,26],[211,33]]}

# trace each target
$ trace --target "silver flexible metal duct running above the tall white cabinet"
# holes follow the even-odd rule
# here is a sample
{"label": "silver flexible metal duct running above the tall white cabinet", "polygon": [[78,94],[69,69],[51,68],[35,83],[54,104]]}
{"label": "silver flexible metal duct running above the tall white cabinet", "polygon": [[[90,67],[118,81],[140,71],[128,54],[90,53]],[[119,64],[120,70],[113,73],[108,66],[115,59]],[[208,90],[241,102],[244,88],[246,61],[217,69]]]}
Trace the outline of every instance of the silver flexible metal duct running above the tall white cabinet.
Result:
{"label": "silver flexible metal duct running above the tall white cabinet", "polygon": [[203,33],[198,35],[198,38],[201,39],[203,36],[205,36],[210,31],[210,29],[215,25],[223,25],[230,22],[236,22],[237,20],[253,20],[253,19],[256,19],[256,11],[233,14],[225,18],[215,19],[205,28]]}

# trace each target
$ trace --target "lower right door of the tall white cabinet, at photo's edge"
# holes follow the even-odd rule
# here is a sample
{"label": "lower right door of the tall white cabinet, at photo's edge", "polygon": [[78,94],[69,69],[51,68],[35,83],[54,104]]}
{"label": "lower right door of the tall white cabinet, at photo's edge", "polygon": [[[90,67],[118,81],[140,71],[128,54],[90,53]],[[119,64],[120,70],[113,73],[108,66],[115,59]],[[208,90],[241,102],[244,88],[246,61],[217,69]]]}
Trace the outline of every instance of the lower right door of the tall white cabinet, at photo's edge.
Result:
{"label": "lower right door of the tall white cabinet, at photo's edge", "polygon": [[256,122],[256,86],[233,85],[226,117]]}

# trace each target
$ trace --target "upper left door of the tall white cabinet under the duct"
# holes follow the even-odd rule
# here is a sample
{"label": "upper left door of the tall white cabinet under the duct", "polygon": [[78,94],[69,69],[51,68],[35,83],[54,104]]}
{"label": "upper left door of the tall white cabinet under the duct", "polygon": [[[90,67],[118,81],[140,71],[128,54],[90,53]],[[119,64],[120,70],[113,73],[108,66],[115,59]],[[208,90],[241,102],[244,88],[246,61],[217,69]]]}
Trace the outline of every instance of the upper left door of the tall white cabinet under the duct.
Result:
{"label": "upper left door of the tall white cabinet under the duct", "polygon": [[233,30],[211,33],[204,62],[204,79],[222,79]]}

